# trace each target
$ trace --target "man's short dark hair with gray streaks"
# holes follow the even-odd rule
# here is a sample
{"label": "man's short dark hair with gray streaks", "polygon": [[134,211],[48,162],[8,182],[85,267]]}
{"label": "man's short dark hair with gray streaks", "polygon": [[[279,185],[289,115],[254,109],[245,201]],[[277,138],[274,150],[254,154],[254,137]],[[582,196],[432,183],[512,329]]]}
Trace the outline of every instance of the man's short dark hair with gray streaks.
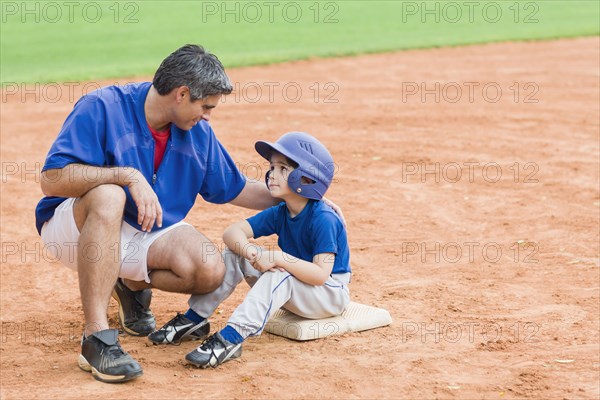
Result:
{"label": "man's short dark hair with gray streaks", "polygon": [[154,74],[152,85],[161,96],[187,86],[192,101],[233,91],[217,56],[194,44],[187,44],[165,58]]}

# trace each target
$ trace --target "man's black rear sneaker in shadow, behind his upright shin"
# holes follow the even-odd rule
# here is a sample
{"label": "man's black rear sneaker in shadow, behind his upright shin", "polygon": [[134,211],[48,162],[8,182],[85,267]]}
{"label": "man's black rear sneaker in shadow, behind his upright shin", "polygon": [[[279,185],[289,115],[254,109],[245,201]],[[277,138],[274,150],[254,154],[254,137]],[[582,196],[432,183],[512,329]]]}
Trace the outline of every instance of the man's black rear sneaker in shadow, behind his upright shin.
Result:
{"label": "man's black rear sneaker in shadow, behind his upright shin", "polygon": [[156,329],[156,320],[150,311],[151,289],[134,292],[117,279],[112,297],[119,303],[119,322],[125,332],[146,336]]}

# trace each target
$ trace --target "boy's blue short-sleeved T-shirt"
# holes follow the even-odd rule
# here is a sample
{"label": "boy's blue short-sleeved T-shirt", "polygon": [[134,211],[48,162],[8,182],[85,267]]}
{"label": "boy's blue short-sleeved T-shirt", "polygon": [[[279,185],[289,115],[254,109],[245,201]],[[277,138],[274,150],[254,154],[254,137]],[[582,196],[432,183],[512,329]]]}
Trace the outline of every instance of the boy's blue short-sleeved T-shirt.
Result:
{"label": "boy's blue short-sleeved T-shirt", "polygon": [[282,202],[247,221],[255,238],[276,234],[281,250],[309,262],[317,254],[334,253],[332,273],[351,272],[346,229],[340,217],[323,201],[309,200],[304,210],[293,218]]}

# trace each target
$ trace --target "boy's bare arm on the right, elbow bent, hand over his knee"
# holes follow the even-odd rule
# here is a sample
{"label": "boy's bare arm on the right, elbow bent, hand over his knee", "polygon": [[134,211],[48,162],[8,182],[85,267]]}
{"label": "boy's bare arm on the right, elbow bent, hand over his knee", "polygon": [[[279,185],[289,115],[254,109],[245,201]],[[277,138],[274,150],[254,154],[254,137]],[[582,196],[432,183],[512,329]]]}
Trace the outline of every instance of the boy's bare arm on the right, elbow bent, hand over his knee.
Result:
{"label": "boy's bare arm on the right, elbow bent, hand over his knee", "polygon": [[296,279],[309,285],[320,286],[325,284],[335,262],[334,253],[321,253],[313,257],[313,262],[308,262],[296,258],[288,253],[279,250],[263,250],[257,255],[254,267],[261,272],[266,272],[273,268],[283,268]]}

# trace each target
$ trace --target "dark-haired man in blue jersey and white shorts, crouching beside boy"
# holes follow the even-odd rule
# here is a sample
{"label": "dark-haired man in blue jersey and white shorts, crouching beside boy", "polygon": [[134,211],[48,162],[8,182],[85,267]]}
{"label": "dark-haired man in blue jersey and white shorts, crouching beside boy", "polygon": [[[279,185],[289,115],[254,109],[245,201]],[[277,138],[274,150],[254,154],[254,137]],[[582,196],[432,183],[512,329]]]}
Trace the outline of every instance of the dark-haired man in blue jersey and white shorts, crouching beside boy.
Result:
{"label": "dark-haired man in blue jersey and white shorts, crouching beside boy", "polygon": [[239,172],[208,124],[231,91],[216,56],[183,46],[152,83],[82,97],[48,153],[36,225],[48,249],[79,274],[79,366],[97,380],[142,375],[109,329],[111,293],[123,329],[145,336],[156,326],[150,287],[205,294],[221,284],[220,252],[183,221],[198,194],[253,209],[275,204],[263,182]]}

